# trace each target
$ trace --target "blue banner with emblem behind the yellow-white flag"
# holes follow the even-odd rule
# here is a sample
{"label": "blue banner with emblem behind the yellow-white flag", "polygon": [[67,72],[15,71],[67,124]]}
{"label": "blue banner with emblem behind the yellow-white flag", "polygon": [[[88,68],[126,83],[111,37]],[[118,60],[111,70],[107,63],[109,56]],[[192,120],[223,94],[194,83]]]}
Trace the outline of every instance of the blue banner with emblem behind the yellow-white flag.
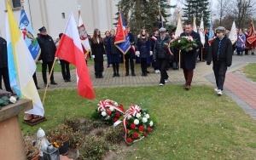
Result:
{"label": "blue banner with emblem behind the yellow-white flag", "polygon": [[32,54],[33,60],[38,60],[38,57],[40,55],[40,47],[37,38],[33,36],[34,31],[32,30],[32,26],[27,19],[24,9],[21,9],[20,12],[20,31],[22,33],[22,37],[26,42],[27,48]]}

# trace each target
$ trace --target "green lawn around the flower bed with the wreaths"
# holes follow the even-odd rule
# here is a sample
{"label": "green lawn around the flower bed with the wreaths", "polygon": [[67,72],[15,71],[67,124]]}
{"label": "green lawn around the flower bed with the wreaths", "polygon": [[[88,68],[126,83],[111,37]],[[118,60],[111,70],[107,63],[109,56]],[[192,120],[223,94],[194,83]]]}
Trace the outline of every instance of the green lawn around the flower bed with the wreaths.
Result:
{"label": "green lawn around the flower bed with the wreaths", "polygon": [[[118,159],[256,157],[255,120],[227,95],[217,96],[211,87],[192,86],[185,91],[183,85],[166,84],[164,87],[97,88],[95,92],[96,100],[85,100],[78,96],[76,89],[49,91],[44,104],[48,120],[34,127],[22,123],[22,132],[36,134],[39,127],[54,129],[67,118],[90,117],[99,100],[110,99],[122,103],[125,109],[135,104],[147,107],[158,121],[152,134],[131,146],[131,151],[119,154]],[[43,97],[44,93],[39,94]]]}

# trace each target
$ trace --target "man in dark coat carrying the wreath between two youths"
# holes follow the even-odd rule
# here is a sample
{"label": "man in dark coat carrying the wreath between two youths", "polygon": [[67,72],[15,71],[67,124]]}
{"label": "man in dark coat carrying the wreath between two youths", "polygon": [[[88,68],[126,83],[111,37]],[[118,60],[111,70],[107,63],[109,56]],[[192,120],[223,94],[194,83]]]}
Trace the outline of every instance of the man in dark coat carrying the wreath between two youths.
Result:
{"label": "man in dark coat carrying the wreath between two youths", "polygon": [[183,68],[183,74],[186,80],[184,88],[189,90],[195,69],[196,53],[201,49],[201,38],[197,32],[193,31],[191,24],[185,26],[185,31],[180,34],[180,37],[193,37],[197,44],[196,47],[190,47],[189,52],[181,50],[181,67]]}

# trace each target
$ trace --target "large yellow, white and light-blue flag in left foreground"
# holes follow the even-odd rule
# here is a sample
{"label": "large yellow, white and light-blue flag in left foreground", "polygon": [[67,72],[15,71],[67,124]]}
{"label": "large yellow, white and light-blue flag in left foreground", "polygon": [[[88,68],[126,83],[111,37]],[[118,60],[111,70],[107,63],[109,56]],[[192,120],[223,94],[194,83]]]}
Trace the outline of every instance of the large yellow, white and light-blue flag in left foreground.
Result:
{"label": "large yellow, white and light-blue flag in left foreground", "polygon": [[7,11],[6,35],[11,87],[15,89],[20,98],[32,100],[33,109],[26,113],[44,116],[44,108],[32,78],[37,66],[20,33],[9,1]]}

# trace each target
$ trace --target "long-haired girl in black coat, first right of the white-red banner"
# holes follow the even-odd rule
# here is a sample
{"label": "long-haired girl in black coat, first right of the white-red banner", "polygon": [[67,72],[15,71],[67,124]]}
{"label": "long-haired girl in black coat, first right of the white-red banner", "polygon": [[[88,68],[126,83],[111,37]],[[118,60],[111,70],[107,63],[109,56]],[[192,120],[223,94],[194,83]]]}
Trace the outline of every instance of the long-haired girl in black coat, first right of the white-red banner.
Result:
{"label": "long-haired girl in black coat, first right of the white-red banner", "polygon": [[103,39],[101,32],[98,29],[94,30],[93,37],[91,38],[91,53],[94,58],[94,70],[96,78],[102,78],[103,67],[103,54],[105,54]]}

